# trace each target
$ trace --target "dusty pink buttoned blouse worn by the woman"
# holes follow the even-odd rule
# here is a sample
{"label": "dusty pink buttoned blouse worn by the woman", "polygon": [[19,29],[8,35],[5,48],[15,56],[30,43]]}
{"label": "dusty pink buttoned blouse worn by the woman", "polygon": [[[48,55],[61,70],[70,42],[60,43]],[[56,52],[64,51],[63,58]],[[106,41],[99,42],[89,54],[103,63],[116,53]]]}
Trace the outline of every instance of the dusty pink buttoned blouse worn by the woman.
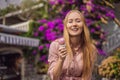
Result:
{"label": "dusty pink buttoned blouse worn by the woman", "polygon": [[[58,61],[58,49],[59,49],[59,42],[53,41],[50,45],[49,49],[49,69],[48,69],[48,75],[50,76],[51,80],[53,80],[53,69],[55,67],[55,64]],[[68,66],[68,56],[66,56],[63,67],[62,67],[62,73],[59,77],[59,80],[82,80],[82,70],[83,70],[83,53],[79,50],[77,54],[74,55],[74,58]]]}

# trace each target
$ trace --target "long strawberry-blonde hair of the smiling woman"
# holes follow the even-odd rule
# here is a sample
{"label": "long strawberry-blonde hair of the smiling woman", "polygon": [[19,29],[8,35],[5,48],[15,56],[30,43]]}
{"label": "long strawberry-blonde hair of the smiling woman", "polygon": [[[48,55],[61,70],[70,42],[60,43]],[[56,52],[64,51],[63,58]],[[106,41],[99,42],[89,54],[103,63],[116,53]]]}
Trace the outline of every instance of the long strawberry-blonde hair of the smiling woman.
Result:
{"label": "long strawberry-blonde hair of the smiling woman", "polygon": [[89,32],[88,27],[86,26],[84,16],[78,10],[71,10],[71,11],[69,11],[67,13],[67,15],[66,15],[66,17],[64,19],[64,34],[63,34],[65,42],[66,42],[66,48],[67,48],[67,51],[68,51],[70,61],[73,58],[73,54],[72,54],[73,51],[72,51],[71,46],[70,46],[70,37],[69,37],[69,33],[67,31],[67,28],[66,28],[66,26],[67,26],[66,23],[68,21],[69,14],[72,13],[72,12],[77,12],[78,14],[80,14],[81,19],[82,19],[83,24],[84,24],[83,25],[83,31],[82,31],[82,33],[80,35],[81,49],[82,49],[82,52],[83,52],[82,78],[84,80],[87,80],[87,78],[92,75],[92,67],[94,65],[94,60],[95,60],[95,57],[96,57],[96,55],[95,55],[96,48],[92,43],[92,39],[90,37],[90,32]]}

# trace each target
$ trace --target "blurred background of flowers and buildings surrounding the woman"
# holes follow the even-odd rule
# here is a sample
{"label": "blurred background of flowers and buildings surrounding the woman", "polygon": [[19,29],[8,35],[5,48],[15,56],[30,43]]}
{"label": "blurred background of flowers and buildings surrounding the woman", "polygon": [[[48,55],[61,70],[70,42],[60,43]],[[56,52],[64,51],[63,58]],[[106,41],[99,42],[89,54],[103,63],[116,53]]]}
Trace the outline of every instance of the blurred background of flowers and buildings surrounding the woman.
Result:
{"label": "blurred background of flowers and buildings surrounding the woman", "polygon": [[50,80],[50,43],[80,10],[98,49],[92,80],[120,80],[120,0],[0,0],[0,80]]}

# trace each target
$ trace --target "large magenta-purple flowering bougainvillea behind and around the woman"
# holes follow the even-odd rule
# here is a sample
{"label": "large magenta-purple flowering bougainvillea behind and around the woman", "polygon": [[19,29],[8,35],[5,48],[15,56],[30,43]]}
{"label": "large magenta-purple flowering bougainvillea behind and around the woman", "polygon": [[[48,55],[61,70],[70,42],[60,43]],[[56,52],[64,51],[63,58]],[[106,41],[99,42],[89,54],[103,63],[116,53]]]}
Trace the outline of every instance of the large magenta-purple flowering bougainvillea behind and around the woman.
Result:
{"label": "large magenta-purple flowering bougainvillea behind and around the woman", "polygon": [[101,24],[107,24],[109,19],[116,20],[112,4],[108,5],[110,1],[104,0],[101,3],[99,0],[49,0],[48,4],[45,4],[46,12],[48,12],[43,14],[46,16],[45,19],[37,20],[38,25],[33,25],[30,34],[28,34],[40,40],[39,47],[31,51],[34,55],[38,53],[40,55],[38,59],[39,72],[46,72],[50,42],[62,36],[62,21],[71,9],[78,9],[83,13],[99,53],[105,55],[102,44],[105,41],[106,32],[101,28]]}

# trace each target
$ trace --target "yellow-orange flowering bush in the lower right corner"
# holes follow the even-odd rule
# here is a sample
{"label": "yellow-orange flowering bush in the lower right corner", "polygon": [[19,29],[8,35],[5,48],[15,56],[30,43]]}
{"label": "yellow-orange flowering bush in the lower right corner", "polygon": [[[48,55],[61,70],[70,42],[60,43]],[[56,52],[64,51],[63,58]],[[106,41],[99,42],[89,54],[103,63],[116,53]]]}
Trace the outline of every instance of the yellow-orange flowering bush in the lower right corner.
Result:
{"label": "yellow-orange flowering bush in the lower right corner", "polygon": [[[120,79],[120,48],[116,50],[117,56],[109,56],[103,60],[98,68],[99,74],[108,79]],[[118,54],[119,52],[119,54]]]}

